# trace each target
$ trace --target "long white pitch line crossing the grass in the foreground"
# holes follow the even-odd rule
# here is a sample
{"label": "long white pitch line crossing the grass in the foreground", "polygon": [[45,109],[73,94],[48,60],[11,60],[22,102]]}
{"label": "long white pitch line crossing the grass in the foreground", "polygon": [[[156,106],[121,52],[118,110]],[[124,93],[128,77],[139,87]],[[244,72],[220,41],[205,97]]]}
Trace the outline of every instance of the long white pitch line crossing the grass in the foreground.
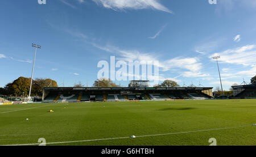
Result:
{"label": "long white pitch line crossing the grass in the foreground", "polygon": [[[139,135],[138,137],[152,137],[152,136],[160,136],[160,135],[174,135],[174,134],[185,134],[185,133],[196,133],[196,132],[203,132],[203,131],[213,131],[213,130],[225,130],[225,129],[234,129],[234,128],[244,128],[253,125],[244,125],[244,126],[234,126],[229,128],[218,128],[218,129],[207,129],[207,130],[197,130],[197,131],[184,131],[178,133],[166,133],[166,134],[152,134],[152,135]],[[49,142],[46,145],[53,145],[53,144],[61,144],[61,143],[77,143],[77,142],[90,142],[90,141],[105,141],[105,140],[112,140],[112,139],[125,139],[131,137],[115,137],[115,138],[102,138],[102,139],[87,139],[81,141],[65,141],[65,142]],[[39,145],[40,143],[28,143],[28,144],[18,144],[18,145],[3,145],[3,146],[32,146],[32,145]]]}

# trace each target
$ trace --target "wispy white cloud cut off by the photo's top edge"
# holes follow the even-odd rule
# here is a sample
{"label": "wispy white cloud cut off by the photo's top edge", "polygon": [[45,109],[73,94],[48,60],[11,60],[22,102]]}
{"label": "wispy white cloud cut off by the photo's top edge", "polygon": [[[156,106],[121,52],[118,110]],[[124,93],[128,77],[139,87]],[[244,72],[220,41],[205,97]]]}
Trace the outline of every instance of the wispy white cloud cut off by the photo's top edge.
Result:
{"label": "wispy white cloud cut off by the photo's top edge", "polygon": [[155,9],[173,13],[165,6],[160,4],[158,0],[92,0],[97,4],[113,9],[113,10],[125,10],[125,9]]}

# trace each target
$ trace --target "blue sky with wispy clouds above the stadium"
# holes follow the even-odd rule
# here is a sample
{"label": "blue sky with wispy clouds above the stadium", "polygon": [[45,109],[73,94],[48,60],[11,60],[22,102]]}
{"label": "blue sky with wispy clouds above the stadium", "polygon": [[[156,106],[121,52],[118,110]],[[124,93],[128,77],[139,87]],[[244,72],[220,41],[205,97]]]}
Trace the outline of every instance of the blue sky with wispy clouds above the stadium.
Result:
{"label": "blue sky with wispy clouds above the stadium", "polygon": [[[23,76],[92,86],[101,60],[158,60],[160,80],[228,90],[256,75],[256,1],[3,0],[0,87]],[[128,82],[121,83],[127,86]],[[151,84],[154,85],[154,84]]]}

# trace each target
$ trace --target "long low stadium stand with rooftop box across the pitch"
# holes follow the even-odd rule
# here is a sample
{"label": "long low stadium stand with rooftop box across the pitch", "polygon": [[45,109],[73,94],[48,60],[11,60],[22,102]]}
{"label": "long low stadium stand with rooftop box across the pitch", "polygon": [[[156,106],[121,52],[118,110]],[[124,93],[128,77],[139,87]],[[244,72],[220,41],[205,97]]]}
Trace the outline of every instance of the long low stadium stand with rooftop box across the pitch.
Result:
{"label": "long low stadium stand with rooftop box across the pitch", "polygon": [[210,99],[212,87],[149,87],[148,81],[133,80],[129,87],[45,87],[43,102],[139,101]]}

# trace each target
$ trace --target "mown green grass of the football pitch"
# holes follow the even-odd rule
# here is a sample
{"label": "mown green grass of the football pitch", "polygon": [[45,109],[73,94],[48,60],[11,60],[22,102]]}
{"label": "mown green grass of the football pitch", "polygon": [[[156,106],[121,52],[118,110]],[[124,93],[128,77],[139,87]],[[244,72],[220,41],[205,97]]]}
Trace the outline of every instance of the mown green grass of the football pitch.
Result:
{"label": "mown green grass of the football pitch", "polygon": [[[253,99],[0,105],[0,145],[38,143],[39,138],[81,141],[252,124],[256,124]],[[256,126],[54,145],[208,146],[209,138],[216,138],[217,145],[255,145]]]}

